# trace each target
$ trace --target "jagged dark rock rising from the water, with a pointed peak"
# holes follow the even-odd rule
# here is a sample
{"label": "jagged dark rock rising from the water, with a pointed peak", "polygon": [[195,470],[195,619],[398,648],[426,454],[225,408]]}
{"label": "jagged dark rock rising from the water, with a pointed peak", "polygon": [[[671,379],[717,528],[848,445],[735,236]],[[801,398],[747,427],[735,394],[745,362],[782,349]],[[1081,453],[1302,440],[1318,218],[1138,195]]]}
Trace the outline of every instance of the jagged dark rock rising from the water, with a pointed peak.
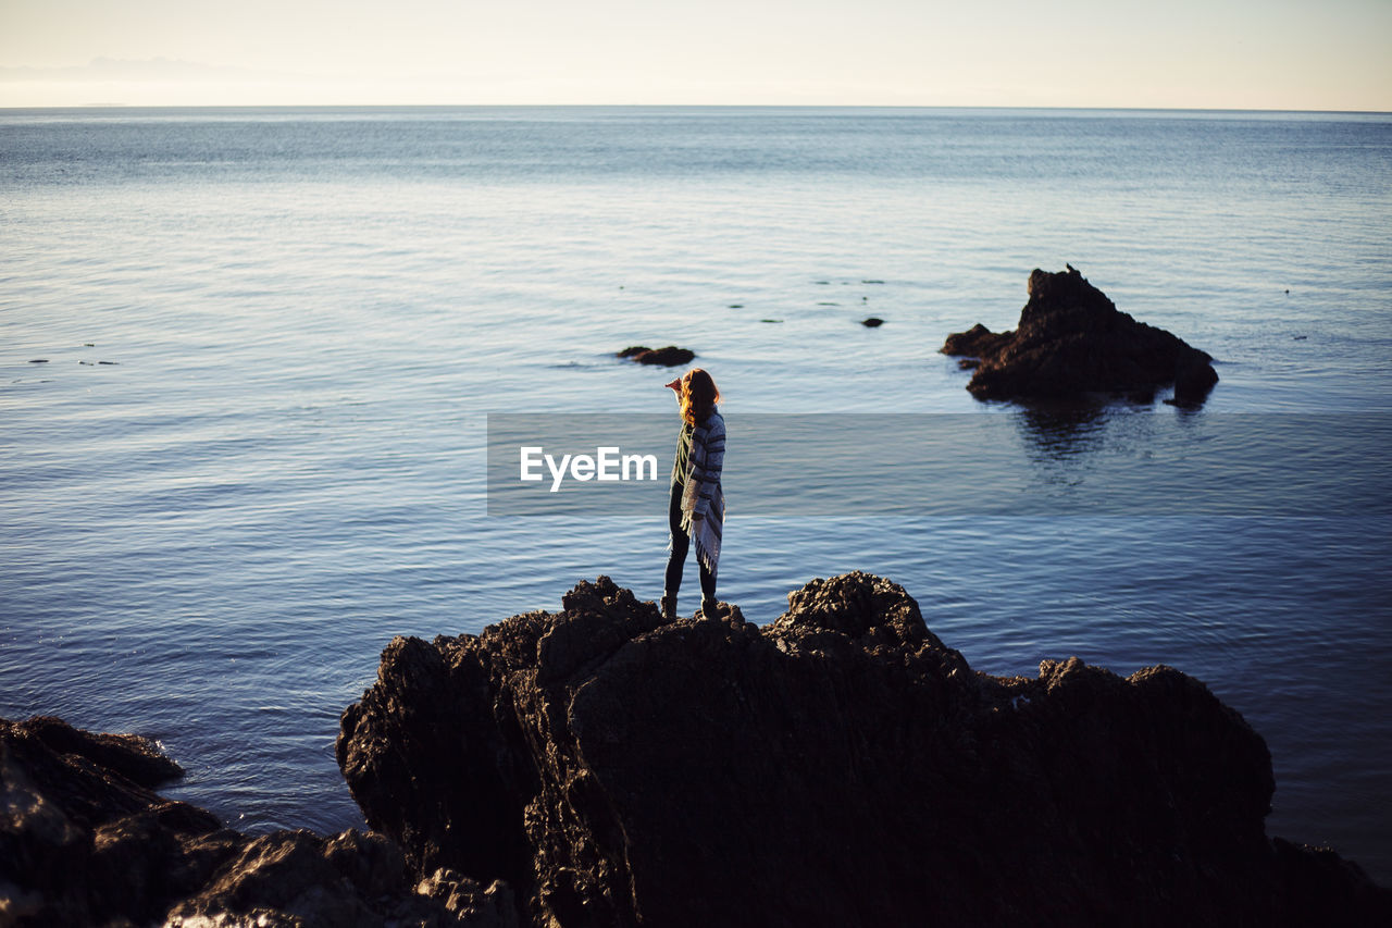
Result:
{"label": "jagged dark rock rising from the water, with a pointed peak", "polygon": [[962,366],[974,369],[966,389],[977,399],[1148,399],[1173,385],[1175,403],[1197,404],[1218,383],[1210,355],[1118,311],[1072,266],[1033,270],[1029,294],[1013,332],[977,323],[942,346],[944,354],[965,357]]}

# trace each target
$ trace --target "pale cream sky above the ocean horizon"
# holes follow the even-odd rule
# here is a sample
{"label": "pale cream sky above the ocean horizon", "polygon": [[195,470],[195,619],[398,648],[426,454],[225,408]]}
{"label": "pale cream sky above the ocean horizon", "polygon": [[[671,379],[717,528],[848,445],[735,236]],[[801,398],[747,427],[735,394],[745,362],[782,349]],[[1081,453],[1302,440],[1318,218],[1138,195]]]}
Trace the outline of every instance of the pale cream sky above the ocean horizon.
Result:
{"label": "pale cream sky above the ocean horizon", "polygon": [[1392,0],[0,0],[0,107],[1392,110]]}

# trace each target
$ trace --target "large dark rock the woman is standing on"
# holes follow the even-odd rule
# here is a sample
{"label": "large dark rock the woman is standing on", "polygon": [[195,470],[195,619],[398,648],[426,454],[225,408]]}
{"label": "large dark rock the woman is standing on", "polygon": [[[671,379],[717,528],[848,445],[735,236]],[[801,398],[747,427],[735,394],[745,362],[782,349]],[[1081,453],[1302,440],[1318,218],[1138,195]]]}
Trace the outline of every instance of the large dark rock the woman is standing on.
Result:
{"label": "large dark rock the woman is standing on", "polygon": [[397,638],[337,750],[418,874],[504,881],[533,925],[1392,924],[1265,836],[1265,743],[1197,680],[974,673],[860,573],[764,628],[600,577]]}

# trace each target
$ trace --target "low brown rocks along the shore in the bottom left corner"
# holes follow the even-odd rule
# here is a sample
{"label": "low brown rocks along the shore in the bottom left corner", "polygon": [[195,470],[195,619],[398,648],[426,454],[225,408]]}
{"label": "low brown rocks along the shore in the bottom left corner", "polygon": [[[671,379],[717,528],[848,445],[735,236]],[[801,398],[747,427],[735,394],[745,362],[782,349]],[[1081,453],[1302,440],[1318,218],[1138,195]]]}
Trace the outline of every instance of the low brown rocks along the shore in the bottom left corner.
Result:
{"label": "low brown rocks along the shore in the bottom left corner", "polygon": [[135,736],[0,719],[0,924],[516,925],[504,886],[418,881],[381,835],[242,835],[152,790],[177,775]]}

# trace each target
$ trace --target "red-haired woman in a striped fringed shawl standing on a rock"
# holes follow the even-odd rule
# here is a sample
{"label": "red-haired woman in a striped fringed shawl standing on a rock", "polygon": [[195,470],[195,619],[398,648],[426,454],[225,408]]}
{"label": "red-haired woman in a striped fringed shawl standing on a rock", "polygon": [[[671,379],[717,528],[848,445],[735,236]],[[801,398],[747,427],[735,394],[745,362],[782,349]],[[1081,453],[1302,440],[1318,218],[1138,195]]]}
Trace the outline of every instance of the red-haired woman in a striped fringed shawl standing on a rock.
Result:
{"label": "red-haired woman in a striped fringed shawl standing on a rock", "polygon": [[720,535],[725,523],[725,497],[720,490],[720,470],[725,463],[725,419],[715,408],[720,390],[702,368],[692,368],[667,386],[677,392],[682,431],[677,438],[672,493],[667,509],[672,536],[663,589],[663,616],[677,617],[677,591],[682,585],[686,549],[695,541],[700,612],[703,617],[714,619],[715,563],[720,560]]}

